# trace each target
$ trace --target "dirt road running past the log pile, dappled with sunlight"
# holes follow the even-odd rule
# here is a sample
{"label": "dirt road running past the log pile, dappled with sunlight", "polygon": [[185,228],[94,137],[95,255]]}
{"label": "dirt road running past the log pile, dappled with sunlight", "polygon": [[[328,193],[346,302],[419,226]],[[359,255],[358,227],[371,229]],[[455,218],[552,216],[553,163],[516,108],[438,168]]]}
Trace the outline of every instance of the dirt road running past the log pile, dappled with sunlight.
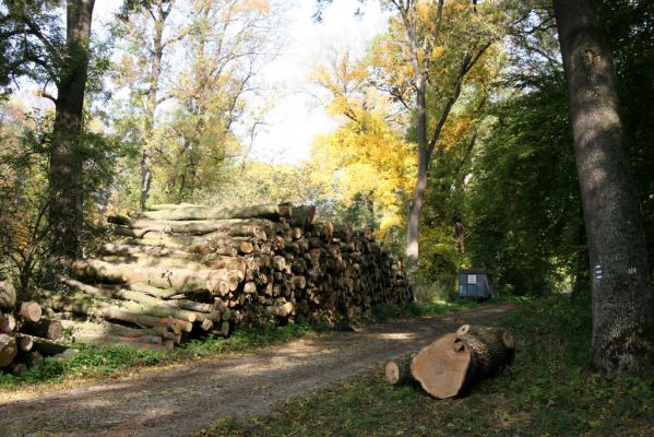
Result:
{"label": "dirt road running past the log pile, dappled with sunlight", "polygon": [[310,335],[252,354],[46,394],[0,393],[0,436],[187,436],[218,418],[265,414],[275,403],[366,371],[462,323],[491,324],[512,308]]}

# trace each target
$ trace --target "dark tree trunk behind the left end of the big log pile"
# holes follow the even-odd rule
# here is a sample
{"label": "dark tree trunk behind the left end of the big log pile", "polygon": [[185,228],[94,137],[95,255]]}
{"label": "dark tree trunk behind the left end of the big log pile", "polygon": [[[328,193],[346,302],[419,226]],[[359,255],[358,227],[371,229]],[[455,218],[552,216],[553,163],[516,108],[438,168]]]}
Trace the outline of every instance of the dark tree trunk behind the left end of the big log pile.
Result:
{"label": "dark tree trunk behind the left end of the big log pile", "polygon": [[53,262],[73,260],[83,218],[80,134],[88,70],[88,40],[94,0],[67,2],[67,56],[57,85],[50,144],[49,222]]}

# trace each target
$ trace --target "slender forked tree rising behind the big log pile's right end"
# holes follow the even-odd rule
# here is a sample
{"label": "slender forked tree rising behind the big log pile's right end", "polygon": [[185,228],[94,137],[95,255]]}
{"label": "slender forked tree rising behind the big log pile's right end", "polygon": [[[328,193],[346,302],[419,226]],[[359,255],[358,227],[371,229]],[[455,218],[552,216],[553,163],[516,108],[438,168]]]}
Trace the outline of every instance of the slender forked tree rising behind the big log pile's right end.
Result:
{"label": "slender forked tree rising behind the big log pile's right end", "polygon": [[[404,90],[393,83],[388,86],[401,101],[406,96],[414,101],[403,103],[415,113],[417,140],[418,172],[406,231],[407,263],[415,267],[429,167],[444,153],[447,144],[439,141],[443,128],[471,71],[497,39],[497,28],[490,19],[492,14],[478,14],[469,1],[445,4],[444,0],[438,3],[388,0],[385,3],[399,13],[404,48],[396,55],[412,67],[413,74]],[[402,92],[397,93],[399,90]]]}

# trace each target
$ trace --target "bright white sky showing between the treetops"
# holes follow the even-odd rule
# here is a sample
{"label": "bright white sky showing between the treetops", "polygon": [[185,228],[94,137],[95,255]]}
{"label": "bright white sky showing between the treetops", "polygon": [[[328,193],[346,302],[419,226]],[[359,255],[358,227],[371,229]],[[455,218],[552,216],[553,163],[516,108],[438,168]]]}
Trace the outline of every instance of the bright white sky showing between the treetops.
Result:
{"label": "bright white sky showing between the treetops", "polygon": [[[122,0],[98,0],[94,22],[110,20]],[[362,52],[366,42],[383,32],[388,14],[377,1],[360,4],[357,0],[333,0],[325,9],[322,23],[316,23],[316,0],[285,1],[285,24],[280,56],[262,71],[260,80],[278,90],[267,125],[255,138],[249,157],[276,164],[301,164],[310,154],[319,133],[336,127],[309,93],[311,66],[332,46],[346,46]],[[355,16],[360,8],[361,15]]]}

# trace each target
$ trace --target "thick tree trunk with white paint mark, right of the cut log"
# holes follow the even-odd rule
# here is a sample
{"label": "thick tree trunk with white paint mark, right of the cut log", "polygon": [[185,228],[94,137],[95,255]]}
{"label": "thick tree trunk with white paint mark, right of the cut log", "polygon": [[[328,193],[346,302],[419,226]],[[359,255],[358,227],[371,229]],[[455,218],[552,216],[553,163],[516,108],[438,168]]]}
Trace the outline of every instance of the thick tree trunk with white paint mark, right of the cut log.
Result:
{"label": "thick tree trunk with white paint mark, right of the cut log", "polygon": [[601,2],[554,4],[593,275],[593,364],[642,373],[654,362],[654,297]]}

